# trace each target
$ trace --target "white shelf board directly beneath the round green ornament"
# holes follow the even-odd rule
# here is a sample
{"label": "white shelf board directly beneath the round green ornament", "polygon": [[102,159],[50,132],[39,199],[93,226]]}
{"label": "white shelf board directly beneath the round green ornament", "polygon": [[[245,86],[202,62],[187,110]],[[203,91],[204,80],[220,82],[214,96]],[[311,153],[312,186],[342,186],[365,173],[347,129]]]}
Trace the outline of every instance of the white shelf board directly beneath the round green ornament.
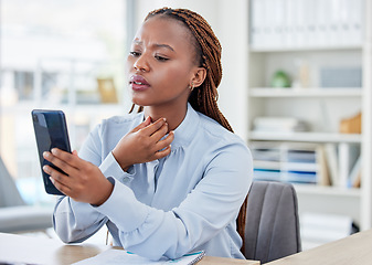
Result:
{"label": "white shelf board directly beneath the round green ornament", "polygon": [[361,87],[332,87],[332,88],[276,88],[254,87],[251,88],[252,97],[361,97]]}

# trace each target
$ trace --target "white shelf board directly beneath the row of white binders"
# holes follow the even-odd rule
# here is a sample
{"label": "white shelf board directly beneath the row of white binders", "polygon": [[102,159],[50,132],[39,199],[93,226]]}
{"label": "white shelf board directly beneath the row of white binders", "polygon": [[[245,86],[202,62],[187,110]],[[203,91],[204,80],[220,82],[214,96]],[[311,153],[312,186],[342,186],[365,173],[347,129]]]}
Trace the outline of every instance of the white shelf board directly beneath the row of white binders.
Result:
{"label": "white shelf board directly beneath the row of white binders", "polygon": [[362,44],[355,45],[319,45],[319,46],[287,46],[287,47],[254,47],[251,46],[252,53],[270,53],[270,52],[327,52],[327,51],[349,51],[362,50]]}

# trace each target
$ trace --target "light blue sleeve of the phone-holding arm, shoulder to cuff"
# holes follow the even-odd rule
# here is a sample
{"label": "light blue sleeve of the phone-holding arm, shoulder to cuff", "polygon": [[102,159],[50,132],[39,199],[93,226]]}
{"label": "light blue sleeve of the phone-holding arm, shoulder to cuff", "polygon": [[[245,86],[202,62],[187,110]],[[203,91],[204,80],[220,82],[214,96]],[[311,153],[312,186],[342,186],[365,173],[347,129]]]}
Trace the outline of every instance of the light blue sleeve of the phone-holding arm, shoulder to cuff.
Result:
{"label": "light blue sleeve of the phone-holding arm, shoulder to cuff", "polygon": [[124,248],[152,259],[177,258],[235,222],[252,183],[251,152],[244,145],[231,145],[211,156],[202,180],[169,212],[140,203],[111,178],[113,193],[96,210],[117,225]]}

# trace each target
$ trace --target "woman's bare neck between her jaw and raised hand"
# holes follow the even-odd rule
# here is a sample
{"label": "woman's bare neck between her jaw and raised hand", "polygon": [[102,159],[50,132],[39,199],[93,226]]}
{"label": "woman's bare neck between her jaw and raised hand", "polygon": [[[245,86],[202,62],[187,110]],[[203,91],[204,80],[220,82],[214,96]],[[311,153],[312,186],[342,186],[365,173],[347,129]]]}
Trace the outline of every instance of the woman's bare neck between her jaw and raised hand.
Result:
{"label": "woman's bare neck between her jaw and raised hand", "polygon": [[184,119],[188,112],[188,104],[177,107],[167,106],[147,106],[145,107],[145,117],[150,116],[152,123],[159,118],[166,118],[168,128],[174,130]]}

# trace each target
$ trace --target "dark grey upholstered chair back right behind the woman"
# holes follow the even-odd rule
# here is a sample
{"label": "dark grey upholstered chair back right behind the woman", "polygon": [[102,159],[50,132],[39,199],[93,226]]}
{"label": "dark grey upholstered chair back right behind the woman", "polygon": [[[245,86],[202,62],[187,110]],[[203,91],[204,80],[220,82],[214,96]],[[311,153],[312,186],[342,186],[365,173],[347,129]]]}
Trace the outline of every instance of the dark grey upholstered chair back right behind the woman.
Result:
{"label": "dark grey upholstered chair back right behind the woman", "polygon": [[243,254],[262,264],[301,251],[297,195],[290,183],[253,181]]}

